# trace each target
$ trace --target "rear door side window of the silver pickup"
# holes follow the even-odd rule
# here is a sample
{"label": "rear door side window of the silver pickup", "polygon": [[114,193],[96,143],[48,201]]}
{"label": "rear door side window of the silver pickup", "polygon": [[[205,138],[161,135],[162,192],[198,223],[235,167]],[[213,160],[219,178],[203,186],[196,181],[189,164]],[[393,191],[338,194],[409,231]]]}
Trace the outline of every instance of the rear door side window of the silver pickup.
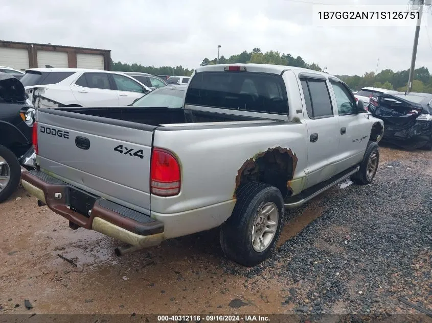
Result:
{"label": "rear door side window of the silver pickup", "polygon": [[[333,109],[326,81],[305,79],[301,83],[309,118],[332,117]],[[310,105],[309,107],[308,104]]]}

